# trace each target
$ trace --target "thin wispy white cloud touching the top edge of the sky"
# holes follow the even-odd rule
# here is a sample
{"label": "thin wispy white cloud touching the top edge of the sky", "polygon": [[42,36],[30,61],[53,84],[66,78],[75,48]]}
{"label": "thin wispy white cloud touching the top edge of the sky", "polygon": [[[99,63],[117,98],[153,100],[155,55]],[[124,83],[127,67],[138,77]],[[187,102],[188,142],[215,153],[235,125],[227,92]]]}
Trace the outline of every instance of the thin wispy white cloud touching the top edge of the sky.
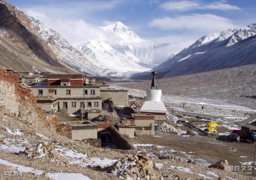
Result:
{"label": "thin wispy white cloud touching the top edge of the sky", "polygon": [[197,10],[241,10],[240,7],[227,4],[226,1],[203,3],[201,1],[169,1],[160,5],[165,10],[189,11]]}

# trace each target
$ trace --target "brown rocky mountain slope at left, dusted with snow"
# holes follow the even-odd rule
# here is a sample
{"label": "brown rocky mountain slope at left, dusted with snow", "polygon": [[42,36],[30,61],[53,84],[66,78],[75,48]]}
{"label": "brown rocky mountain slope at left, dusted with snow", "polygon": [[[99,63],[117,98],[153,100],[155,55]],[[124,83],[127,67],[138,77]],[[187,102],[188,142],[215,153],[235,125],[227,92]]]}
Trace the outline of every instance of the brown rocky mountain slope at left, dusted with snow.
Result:
{"label": "brown rocky mountain slope at left, dusted with snow", "polygon": [[20,71],[99,75],[101,67],[58,32],[4,0],[0,2],[0,65]]}

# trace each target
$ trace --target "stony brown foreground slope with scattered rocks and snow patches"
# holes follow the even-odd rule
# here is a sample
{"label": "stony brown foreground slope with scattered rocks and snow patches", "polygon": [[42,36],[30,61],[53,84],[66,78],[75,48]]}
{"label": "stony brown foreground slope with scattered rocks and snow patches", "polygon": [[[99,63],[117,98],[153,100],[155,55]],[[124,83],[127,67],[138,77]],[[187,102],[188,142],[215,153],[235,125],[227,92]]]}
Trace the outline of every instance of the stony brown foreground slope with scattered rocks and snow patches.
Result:
{"label": "stony brown foreground slope with scattered rocks and snow patches", "polygon": [[[86,142],[72,141],[47,130],[27,126],[1,114],[1,171],[22,171],[20,179],[60,179],[61,176],[79,179],[203,179],[234,178],[229,171],[207,168],[182,157],[165,146],[141,144],[134,138],[137,150],[106,150]],[[153,178],[154,177],[154,178]],[[1,174],[1,178],[9,178]]]}

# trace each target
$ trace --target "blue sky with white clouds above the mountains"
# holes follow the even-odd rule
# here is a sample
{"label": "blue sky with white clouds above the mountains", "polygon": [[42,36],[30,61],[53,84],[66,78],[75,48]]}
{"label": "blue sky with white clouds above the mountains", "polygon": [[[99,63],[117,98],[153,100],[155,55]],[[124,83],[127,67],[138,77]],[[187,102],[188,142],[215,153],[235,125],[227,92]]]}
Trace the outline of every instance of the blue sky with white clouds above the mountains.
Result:
{"label": "blue sky with white clouds above the mountains", "polygon": [[156,62],[212,32],[256,23],[255,0],[7,0],[59,32],[70,44],[107,40],[99,28],[123,22],[143,39],[167,45]]}

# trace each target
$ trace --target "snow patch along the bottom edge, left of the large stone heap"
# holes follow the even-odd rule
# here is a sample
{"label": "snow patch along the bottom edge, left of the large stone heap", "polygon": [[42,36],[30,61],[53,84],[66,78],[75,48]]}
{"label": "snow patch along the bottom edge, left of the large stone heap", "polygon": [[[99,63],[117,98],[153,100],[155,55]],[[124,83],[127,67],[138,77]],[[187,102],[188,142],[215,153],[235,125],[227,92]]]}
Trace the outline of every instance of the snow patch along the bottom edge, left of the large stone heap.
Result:
{"label": "snow patch along the bottom edge, left of the large stone heap", "polygon": [[51,179],[54,180],[90,180],[88,176],[78,173],[47,173]]}

